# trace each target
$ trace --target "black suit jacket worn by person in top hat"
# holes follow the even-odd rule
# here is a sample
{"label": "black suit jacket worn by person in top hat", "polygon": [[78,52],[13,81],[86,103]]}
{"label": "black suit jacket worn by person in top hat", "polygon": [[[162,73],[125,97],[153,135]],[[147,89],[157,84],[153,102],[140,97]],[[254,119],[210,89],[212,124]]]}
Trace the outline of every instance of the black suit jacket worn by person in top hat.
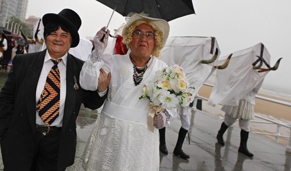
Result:
{"label": "black suit jacket worn by person in top hat", "polygon": [[[36,134],[36,87],[45,59],[42,52],[17,55],[13,59],[8,79],[0,92],[0,143],[4,170],[30,170],[33,160]],[[68,53],[66,72],[66,98],[58,152],[58,168],[74,163],[76,152],[76,119],[81,103],[95,110],[102,106],[97,91],[73,87],[74,76],[79,75],[84,61]],[[98,79],[98,78],[96,78]]]}

